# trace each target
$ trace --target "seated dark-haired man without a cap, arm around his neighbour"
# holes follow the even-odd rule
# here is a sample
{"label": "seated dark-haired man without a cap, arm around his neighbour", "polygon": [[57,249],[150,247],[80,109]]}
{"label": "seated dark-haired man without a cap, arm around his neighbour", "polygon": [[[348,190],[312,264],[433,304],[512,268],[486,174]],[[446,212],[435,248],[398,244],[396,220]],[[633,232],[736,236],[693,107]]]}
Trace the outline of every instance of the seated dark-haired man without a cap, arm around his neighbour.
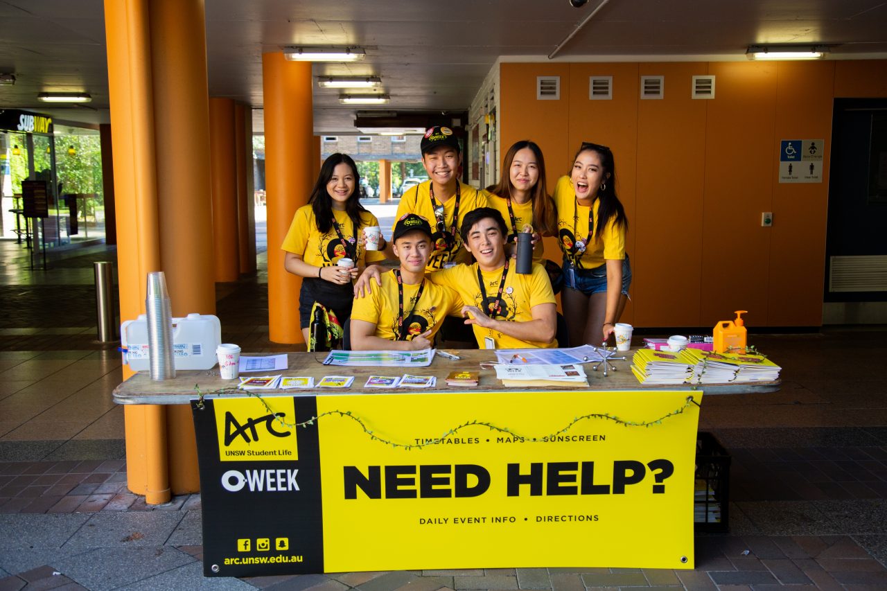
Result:
{"label": "seated dark-haired man without a cap, arm around his neighbour", "polygon": [[[554,339],[557,310],[548,274],[538,264],[533,265],[530,274],[516,272],[506,257],[506,224],[502,214],[491,208],[471,211],[462,223],[462,240],[468,252],[475,256],[475,264],[457,264],[430,273],[427,278],[452,288],[462,302],[467,303],[460,313],[467,317],[465,323],[472,325],[478,346],[481,349],[557,347]],[[357,281],[358,297],[364,290],[372,295],[372,279],[377,284],[380,282],[378,269],[378,266],[367,268]]]}

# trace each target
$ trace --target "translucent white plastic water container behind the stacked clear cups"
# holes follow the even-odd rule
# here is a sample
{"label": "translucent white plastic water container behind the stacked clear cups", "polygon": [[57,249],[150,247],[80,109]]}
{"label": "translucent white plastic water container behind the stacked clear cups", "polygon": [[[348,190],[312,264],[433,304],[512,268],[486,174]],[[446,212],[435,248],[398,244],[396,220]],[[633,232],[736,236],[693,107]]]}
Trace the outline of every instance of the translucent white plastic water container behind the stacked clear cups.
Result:
{"label": "translucent white plastic water container behind the stacked clear cups", "polygon": [[[176,369],[210,369],[216,365],[216,347],[222,343],[222,324],[212,314],[188,314],[172,319],[173,358]],[[139,314],[120,325],[123,363],[133,371],[148,365],[148,319]]]}

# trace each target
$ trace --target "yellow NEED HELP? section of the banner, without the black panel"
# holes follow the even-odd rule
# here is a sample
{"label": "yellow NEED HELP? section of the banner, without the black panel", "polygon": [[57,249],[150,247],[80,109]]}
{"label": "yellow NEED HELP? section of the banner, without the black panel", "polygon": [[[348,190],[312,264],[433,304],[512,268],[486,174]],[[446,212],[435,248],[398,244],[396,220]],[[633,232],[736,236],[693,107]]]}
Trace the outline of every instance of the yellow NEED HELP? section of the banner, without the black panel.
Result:
{"label": "yellow NEED HELP? section of the banner, without the black panel", "polygon": [[692,569],[691,395],[318,397],[324,570]]}

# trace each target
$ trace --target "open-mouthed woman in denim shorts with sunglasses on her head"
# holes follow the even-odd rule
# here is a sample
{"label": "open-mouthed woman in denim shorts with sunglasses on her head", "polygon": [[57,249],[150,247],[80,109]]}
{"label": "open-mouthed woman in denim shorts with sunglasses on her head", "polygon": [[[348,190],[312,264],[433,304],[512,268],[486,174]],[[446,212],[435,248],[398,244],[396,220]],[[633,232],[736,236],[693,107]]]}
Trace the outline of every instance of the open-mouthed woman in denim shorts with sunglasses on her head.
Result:
{"label": "open-mouthed woman in denim shorts with sunglasses on her head", "polygon": [[570,343],[607,342],[628,299],[628,219],[616,197],[616,165],[607,146],[583,143],[569,177],[554,189],[563,251],[564,316]]}

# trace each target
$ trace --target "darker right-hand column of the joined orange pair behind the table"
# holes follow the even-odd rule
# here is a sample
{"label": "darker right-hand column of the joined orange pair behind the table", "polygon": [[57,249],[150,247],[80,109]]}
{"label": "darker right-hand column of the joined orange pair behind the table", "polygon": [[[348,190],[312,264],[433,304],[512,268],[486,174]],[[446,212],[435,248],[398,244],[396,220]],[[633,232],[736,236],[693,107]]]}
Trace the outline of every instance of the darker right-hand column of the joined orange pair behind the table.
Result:
{"label": "darker right-hand column of the joined orange pair behind the table", "polygon": [[[161,270],[173,316],[216,313],[203,0],[152,0],[151,56]],[[191,408],[167,407],[169,486],[200,490]]]}

